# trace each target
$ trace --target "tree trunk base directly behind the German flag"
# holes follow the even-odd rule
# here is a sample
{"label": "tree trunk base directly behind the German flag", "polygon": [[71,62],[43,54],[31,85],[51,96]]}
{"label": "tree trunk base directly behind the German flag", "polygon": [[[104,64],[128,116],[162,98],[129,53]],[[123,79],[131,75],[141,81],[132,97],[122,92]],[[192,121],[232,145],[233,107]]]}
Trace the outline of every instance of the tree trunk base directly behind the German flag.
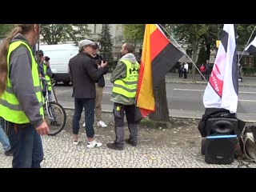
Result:
{"label": "tree trunk base directly behind the German flag", "polygon": [[150,114],[150,120],[169,122],[169,109],[166,98],[166,78],[160,82],[158,90],[154,90],[155,112]]}

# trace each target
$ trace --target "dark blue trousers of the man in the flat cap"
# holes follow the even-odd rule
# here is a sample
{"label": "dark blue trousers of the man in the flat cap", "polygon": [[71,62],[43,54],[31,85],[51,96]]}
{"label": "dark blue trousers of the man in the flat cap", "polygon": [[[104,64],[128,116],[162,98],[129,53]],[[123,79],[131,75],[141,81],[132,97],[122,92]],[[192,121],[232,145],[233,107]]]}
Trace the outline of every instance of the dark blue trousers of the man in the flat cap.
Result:
{"label": "dark blue trousers of the man in the flat cap", "polygon": [[94,138],[94,107],[94,98],[74,98],[73,134],[78,134],[79,132],[79,121],[82,108],[84,108],[86,112],[86,136],[87,138]]}

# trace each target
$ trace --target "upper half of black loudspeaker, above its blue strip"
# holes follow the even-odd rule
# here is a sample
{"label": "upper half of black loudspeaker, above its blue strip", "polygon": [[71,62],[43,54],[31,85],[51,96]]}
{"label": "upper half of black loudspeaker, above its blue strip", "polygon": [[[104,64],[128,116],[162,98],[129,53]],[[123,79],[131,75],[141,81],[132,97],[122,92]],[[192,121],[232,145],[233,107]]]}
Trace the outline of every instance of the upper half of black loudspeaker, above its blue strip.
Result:
{"label": "upper half of black loudspeaker, above its blue strip", "polygon": [[206,136],[240,133],[237,118],[208,118],[205,128]]}

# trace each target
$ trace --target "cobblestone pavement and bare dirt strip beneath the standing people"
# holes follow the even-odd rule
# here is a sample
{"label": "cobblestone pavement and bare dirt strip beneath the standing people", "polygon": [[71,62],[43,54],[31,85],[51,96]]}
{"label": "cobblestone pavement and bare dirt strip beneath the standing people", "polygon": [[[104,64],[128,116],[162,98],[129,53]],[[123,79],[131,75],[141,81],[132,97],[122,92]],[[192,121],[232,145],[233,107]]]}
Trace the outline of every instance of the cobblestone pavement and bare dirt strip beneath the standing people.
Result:
{"label": "cobblestone pavement and bare dirt strip beneath the standing people", "polygon": [[[95,138],[103,143],[101,148],[87,149],[86,134],[81,126],[80,142],[73,146],[70,119],[73,110],[66,110],[65,130],[50,137],[43,136],[43,168],[236,168],[238,160],[230,165],[213,165],[204,161],[200,153],[201,136],[197,130],[197,120],[178,120],[173,128],[149,128],[140,126],[137,147],[126,145],[124,150],[110,150],[107,142],[114,140],[112,114],[103,114],[107,128],[95,128]],[[82,118],[83,119],[83,118]],[[182,122],[183,121],[183,122]],[[81,122],[82,125],[82,122]],[[129,132],[126,128],[126,138]],[[11,167],[12,157],[6,157],[0,149],[0,167]],[[251,163],[250,167],[256,167]]]}

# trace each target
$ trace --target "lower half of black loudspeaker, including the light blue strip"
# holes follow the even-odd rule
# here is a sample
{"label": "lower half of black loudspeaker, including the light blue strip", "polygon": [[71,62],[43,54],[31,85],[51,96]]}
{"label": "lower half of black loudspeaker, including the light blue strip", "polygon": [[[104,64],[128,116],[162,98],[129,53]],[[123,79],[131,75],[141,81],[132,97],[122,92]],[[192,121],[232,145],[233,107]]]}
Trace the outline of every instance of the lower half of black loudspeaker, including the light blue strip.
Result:
{"label": "lower half of black loudspeaker, including the light blue strip", "polygon": [[229,164],[234,162],[234,147],[237,135],[216,135],[206,137],[205,162],[212,164]]}

